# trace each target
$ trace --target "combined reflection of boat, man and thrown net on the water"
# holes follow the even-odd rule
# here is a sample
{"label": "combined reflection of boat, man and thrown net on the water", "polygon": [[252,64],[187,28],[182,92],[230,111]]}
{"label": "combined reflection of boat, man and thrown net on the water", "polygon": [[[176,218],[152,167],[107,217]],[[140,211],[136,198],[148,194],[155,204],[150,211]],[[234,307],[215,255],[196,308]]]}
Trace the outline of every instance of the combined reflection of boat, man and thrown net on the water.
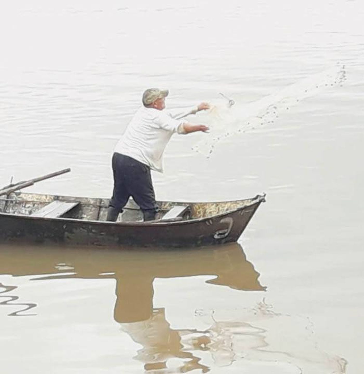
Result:
{"label": "combined reflection of boat, man and thrown net on the water", "polygon": [[[214,285],[264,290],[259,273],[238,244],[203,251],[137,252],[0,247],[0,274],[34,275],[32,279],[38,281],[115,279],[114,320],[140,344],[134,358],[152,373],[205,373],[236,361],[247,372],[260,374],[345,373],[344,359],[317,349],[307,318],[275,313],[264,302],[252,309],[197,310],[196,324],[188,328],[172,328],[166,310],[153,307],[155,278],[208,275],[216,276],[207,281]],[[3,286],[11,292],[3,291],[0,296],[16,292],[12,285]],[[19,301],[12,297],[9,305]],[[32,301],[23,307],[16,304],[23,311],[19,314],[25,309],[24,314],[34,314],[37,300]],[[171,369],[171,362],[177,367]]]}

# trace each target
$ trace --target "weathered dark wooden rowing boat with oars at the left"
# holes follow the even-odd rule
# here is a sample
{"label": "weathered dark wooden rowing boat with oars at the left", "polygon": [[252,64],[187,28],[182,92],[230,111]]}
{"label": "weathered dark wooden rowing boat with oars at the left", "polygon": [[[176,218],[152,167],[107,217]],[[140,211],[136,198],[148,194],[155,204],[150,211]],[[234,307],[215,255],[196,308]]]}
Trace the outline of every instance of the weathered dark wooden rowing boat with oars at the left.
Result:
{"label": "weathered dark wooden rowing boat with oars at the left", "polygon": [[19,186],[34,184],[32,181],[0,190],[1,241],[147,247],[219,245],[236,242],[265,201],[265,194],[225,202],[161,201],[157,219],[143,222],[139,207],[131,199],[118,221],[108,222],[108,199],[16,191]]}

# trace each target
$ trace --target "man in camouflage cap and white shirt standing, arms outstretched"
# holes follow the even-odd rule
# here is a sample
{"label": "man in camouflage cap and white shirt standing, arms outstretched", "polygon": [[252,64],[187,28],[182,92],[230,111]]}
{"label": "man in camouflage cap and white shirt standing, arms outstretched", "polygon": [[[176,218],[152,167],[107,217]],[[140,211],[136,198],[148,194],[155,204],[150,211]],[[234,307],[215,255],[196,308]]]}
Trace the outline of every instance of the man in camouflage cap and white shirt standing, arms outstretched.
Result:
{"label": "man in camouflage cap and white shirt standing, arms outstretched", "polygon": [[150,88],[143,93],[143,106],[134,114],[112,156],[114,188],[109,202],[108,221],[116,221],[130,196],[140,206],[144,221],[154,220],[158,206],[150,169],[163,172],[162,156],[171,136],[208,131],[208,126],[193,125],[183,118],[206,110],[202,102],[187,113],[172,115],[165,109],[168,90]]}

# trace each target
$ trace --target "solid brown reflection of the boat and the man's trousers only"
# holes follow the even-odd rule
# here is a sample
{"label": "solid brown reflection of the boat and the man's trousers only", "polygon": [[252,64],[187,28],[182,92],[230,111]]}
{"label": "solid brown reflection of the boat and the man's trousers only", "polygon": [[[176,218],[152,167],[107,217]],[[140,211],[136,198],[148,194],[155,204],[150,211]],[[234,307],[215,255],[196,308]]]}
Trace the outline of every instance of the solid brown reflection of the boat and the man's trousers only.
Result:
{"label": "solid brown reflection of the boat and the man's trousers only", "polygon": [[133,249],[119,252],[74,248],[68,251],[38,247],[30,251],[29,246],[0,247],[0,273],[37,275],[37,279],[115,279],[115,319],[118,322],[149,318],[155,278],[216,275],[217,278],[208,282],[242,290],[265,289],[258,282],[259,273],[236,243],[201,251],[140,249],[135,252]]}

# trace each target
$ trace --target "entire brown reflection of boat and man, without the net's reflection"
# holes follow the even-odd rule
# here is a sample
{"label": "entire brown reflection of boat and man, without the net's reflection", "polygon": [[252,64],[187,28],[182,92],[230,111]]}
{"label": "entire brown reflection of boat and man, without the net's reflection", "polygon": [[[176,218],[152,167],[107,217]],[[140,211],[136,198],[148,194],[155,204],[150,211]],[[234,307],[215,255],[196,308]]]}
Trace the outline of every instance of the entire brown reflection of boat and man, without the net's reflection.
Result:
{"label": "entire brown reflection of boat and man, without the net's reflection", "polygon": [[265,289],[258,281],[259,273],[236,243],[218,248],[170,251],[0,247],[0,273],[35,275],[37,280],[115,279],[114,319],[143,346],[136,358],[144,363],[146,370],[165,368],[169,358],[180,358],[183,361],[180,372],[197,368],[208,371],[199,364],[200,359],[186,352],[181,344],[183,335],[194,334],[192,351],[207,350],[208,334],[193,328],[170,328],[164,308],[153,308],[155,278],[215,275],[208,283],[245,291]]}

